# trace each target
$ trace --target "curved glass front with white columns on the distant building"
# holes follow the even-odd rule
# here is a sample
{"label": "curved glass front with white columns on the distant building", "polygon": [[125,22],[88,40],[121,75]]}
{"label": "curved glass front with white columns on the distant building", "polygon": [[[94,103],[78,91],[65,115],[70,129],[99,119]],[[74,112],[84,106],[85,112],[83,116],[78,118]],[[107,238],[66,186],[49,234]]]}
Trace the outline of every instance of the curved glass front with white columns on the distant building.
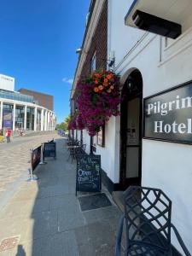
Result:
{"label": "curved glass front with white columns on the distant building", "polygon": [[[0,89],[0,131],[53,131],[52,110],[37,104],[33,96]],[[50,122],[52,122],[50,124]]]}

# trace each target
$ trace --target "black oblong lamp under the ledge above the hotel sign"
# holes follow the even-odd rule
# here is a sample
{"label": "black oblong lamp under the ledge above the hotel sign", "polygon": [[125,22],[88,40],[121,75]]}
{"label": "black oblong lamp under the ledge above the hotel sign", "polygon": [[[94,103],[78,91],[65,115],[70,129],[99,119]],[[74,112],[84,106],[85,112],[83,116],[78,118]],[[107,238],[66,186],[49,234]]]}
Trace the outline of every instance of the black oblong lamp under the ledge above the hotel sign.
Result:
{"label": "black oblong lamp under the ledge above the hotel sign", "polygon": [[137,9],[132,15],[134,24],[145,31],[154,32],[160,36],[176,39],[182,33],[182,26],[170,20],[144,13]]}

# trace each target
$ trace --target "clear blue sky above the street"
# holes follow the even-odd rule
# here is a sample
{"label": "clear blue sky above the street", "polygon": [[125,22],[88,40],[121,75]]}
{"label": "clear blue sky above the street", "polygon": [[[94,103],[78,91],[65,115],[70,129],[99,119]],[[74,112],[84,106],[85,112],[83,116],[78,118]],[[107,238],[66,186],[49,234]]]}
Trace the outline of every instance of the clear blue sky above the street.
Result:
{"label": "clear blue sky above the street", "polygon": [[0,73],[54,96],[57,122],[69,113],[69,94],[90,0],[1,0]]}

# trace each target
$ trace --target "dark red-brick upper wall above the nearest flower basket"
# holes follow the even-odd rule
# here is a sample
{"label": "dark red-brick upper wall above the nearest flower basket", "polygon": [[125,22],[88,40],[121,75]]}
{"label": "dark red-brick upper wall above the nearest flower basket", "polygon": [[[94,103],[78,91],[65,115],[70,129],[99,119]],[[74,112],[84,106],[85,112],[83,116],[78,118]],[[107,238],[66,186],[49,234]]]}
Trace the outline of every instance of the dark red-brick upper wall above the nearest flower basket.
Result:
{"label": "dark red-brick upper wall above the nearest flower basket", "polygon": [[105,1],[99,17],[96,31],[90,43],[90,49],[84,61],[81,77],[90,73],[90,64],[96,52],[96,69],[107,68],[108,55],[108,0]]}

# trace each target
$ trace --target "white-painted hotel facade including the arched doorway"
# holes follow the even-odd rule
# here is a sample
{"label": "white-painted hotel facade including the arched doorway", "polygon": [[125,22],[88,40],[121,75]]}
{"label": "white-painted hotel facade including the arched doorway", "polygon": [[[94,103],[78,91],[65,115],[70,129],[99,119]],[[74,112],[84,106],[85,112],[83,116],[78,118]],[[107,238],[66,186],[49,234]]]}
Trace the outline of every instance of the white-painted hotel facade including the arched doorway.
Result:
{"label": "white-painted hotel facade including the arched doorway", "polygon": [[[103,3],[104,1],[96,3],[92,13],[90,20],[92,30],[87,31],[83,44],[84,53],[89,50],[89,40],[96,29],[96,19],[99,19],[98,12],[101,12]],[[172,39],[134,27],[132,14],[137,9],[176,22],[182,26],[181,33],[177,38]],[[190,253],[192,253],[190,162],[192,138],[189,137],[186,141],[189,136],[187,131],[191,133],[189,127],[191,123],[188,122],[187,127],[183,117],[186,120],[192,119],[192,114],[186,113],[185,116],[184,112],[180,114],[176,110],[180,108],[178,105],[180,103],[177,101],[181,99],[179,90],[185,90],[187,86],[188,93],[187,96],[183,96],[183,104],[189,102],[181,105],[184,106],[181,108],[189,108],[189,113],[192,111],[191,12],[192,3],[188,0],[166,2],[122,0],[120,3],[117,0],[108,0],[108,60],[113,55],[114,72],[120,75],[122,96],[125,96],[125,100],[119,106],[120,116],[112,117],[105,125],[104,147],[95,145],[96,154],[101,154],[102,171],[110,189],[125,189],[137,183],[162,189],[169,196],[172,200],[172,223],[176,224]],[[76,70],[74,90],[84,64],[84,53],[81,54]],[[175,97],[172,96],[173,93],[176,93]],[[73,92],[71,97],[73,98]],[[158,101],[155,103],[157,98]],[[175,126],[168,123],[164,130],[160,126],[154,127],[154,131],[156,129],[156,133],[158,131],[160,133],[157,137],[146,135],[148,131],[145,129],[150,127],[152,124],[150,122],[153,121],[149,119],[150,124],[147,126],[145,108],[148,107],[148,101],[153,102],[150,103],[149,118],[155,118],[158,111],[168,109],[168,113],[160,114],[162,122],[166,120],[169,122],[172,118],[175,121]],[[166,105],[162,105],[163,102]],[[157,108],[154,109],[153,104],[156,104]],[[161,104],[159,110],[158,104]],[[152,112],[155,114],[153,115]],[[154,124],[160,125],[155,121]],[[76,137],[75,132],[74,134]],[[177,139],[172,139],[176,136]],[[80,131],[77,131],[77,138],[80,138]],[[90,153],[90,137],[85,130],[83,141],[87,144],[87,153]],[[172,236],[172,243],[181,252],[174,236]]]}

